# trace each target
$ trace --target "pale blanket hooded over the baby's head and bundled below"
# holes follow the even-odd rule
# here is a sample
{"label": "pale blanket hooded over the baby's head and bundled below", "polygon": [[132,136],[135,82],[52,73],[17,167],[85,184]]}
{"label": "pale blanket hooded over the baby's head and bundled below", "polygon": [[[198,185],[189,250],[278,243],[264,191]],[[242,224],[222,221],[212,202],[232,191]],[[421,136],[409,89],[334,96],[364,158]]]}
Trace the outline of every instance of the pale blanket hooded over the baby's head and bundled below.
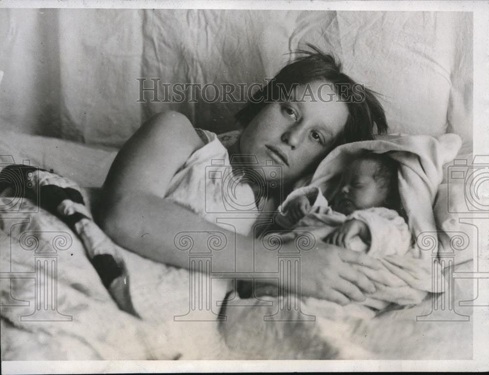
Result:
{"label": "pale blanket hooded over the baby's head and bundled below", "polygon": [[367,305],[376,306],[375,300],[418,304],[427,292],[440,291],[436,288],[442,282],[441,267],[436,266],[437,254],[423,248],[426,248],[425,241],[435,241],[435,246],[430,243],[430,250],[438,248],[438,239],[433,236],[437,228],[432,207],[443,179],[443,165],[453,160],[461,145],[456,134],[443,134],[438,139],[428,135],[379,135],[375,140],[334,149],[313,174],[310,185],[319,187],[327,199],[332,199],[344,167],[362,153],[386,153],[399,162],[401,203],[415,241],[411,256],[382,257],[382,270],[357,266],[377,287],[368,296]]}

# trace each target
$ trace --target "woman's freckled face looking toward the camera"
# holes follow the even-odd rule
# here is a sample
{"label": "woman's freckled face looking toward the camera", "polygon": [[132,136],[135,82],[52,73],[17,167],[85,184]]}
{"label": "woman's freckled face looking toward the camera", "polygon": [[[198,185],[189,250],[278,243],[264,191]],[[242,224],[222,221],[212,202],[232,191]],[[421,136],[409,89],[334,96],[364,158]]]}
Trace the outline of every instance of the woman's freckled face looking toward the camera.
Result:
{"label": "woman's freckled face looking toward the camera", "polygon": [[260,165],[267,165],[266,161],[272,159],[274,165],[282,167],[283,184],[286,186],[303,176],[331,151],[336,136],[348,119],[347,105],[339,101],[330,88],[332,85],[324,83],[315,81],[309,84],[312,97],[307,94],[309,88],[305,92],[306,85],[303,85],[298,87],[297,96],[290,101],[267,104],[241,134],[241,153],[255,155]]}

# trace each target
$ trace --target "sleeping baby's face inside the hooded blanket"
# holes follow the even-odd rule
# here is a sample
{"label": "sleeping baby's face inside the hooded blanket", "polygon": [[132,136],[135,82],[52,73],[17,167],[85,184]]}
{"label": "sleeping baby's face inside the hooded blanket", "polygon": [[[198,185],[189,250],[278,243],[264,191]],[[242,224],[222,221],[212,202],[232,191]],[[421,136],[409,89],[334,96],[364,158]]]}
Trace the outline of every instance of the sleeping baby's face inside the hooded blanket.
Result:
{"label": "sleeping baby's face inside the hooded blanket", "polygon": [[382,207],[389,191],[374,179],[377,168],[376,161],[354,160],[343,172],[341,188],[333,199],[333,210],[350,215],[356,210]]}

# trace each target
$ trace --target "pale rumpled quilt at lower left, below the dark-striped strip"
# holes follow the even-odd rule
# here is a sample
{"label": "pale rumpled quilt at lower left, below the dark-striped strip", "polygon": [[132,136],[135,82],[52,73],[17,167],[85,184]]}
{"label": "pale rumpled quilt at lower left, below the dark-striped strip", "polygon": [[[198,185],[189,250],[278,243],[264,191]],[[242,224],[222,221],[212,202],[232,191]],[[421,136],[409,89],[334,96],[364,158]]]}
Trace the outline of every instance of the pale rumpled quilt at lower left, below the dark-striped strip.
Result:
{"label": "pale rumpled quilt at lower left, below the dark-striped strip", "polygon": [[[10,200],[1,198],[0,204]],[[35,210],[27,200],[23,207]],[[55,216],[43,209],[21,221],[0,214],[0,228],[2,360],[180,355],[164,332],[118,309],[82,243]],[[39,294],[51,286],[54,294]]]}

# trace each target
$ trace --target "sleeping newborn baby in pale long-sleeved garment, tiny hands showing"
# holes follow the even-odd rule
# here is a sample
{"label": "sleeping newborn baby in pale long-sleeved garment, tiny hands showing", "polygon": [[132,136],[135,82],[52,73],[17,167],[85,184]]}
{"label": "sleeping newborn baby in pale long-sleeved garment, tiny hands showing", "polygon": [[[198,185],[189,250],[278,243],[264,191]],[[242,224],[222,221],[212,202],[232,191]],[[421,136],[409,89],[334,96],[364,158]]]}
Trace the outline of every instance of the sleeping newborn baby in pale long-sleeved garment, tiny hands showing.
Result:
{"label": "sleeping newborn baby in pale long-sleeved garment, tiny hands showing", "polygon": [[376,258],[404,255],[411,234],[399,214],[397,171],[397,162],[385,154],[359,156],[344,170],[332,204],[318,187],[299,188],[282,204],[276,224],[291,231],[286,238],[309,232],[316,241]]}

